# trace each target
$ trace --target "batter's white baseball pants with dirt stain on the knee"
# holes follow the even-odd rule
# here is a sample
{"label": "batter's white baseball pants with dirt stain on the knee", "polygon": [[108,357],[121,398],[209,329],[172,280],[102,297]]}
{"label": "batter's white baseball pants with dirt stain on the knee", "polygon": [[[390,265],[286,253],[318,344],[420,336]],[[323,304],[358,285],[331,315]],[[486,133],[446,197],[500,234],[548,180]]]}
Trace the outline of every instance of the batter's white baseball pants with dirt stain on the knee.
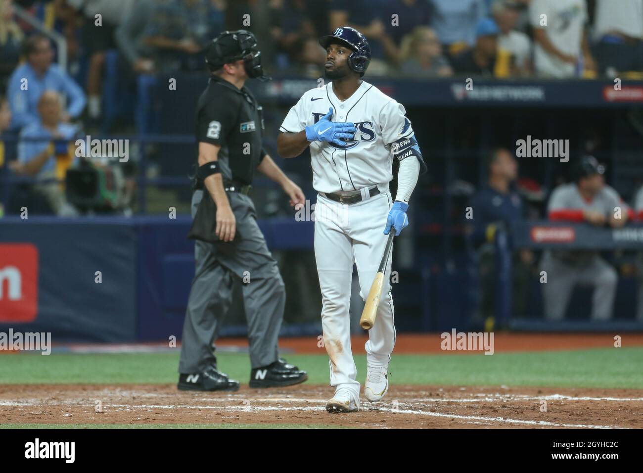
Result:
{"label": "batter's white baseball pants with dirt stain on the knee", "polygon": [[[367,196],[363,192],[363,195]],[[357,264],[361,298],[366,300],[386,246],[386,217],[393,205],[388,192],[341,204],[318,195],[315,208],[315,258],[321,288],[321,325],[331,366],[331,386],[347,388],[359,398],[357,367],[350,349],[349,300],[353,264]],[[388,256],[382,299],[365,348],[369,364],[387,366],[395,344],[393,299]]]}

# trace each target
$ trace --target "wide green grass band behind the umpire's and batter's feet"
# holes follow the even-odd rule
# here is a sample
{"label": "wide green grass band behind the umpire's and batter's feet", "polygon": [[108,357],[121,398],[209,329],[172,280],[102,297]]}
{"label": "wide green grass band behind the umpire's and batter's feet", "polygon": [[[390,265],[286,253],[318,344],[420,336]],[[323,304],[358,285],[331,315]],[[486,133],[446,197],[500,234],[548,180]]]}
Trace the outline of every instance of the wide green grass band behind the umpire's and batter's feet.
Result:
{"label": "wide green grass band behind the umpire's and batter's feet", "polygon": [[[246,384],[248,355],[217,355],[219,369]],[[357,355],[358,379],[366,358]],[[174,384],[178,353],[0,355],[0,384]],[[289,355],[309,384],[329,384],[326,355]],[[612,387],[643,389],[643,348],[530,353],[394,355],[393,384]]]}

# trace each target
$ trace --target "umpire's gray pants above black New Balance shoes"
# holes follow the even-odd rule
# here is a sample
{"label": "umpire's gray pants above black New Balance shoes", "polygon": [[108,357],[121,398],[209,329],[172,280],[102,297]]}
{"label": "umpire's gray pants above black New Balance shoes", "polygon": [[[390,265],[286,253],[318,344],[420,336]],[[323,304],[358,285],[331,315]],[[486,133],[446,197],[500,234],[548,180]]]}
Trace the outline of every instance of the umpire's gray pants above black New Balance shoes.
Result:
{"label": "umpire's gray pants above black New Balance shoes", "polygon": [[[192,218],[202,197],[203,190],[192,195]],[[215,364],[212,343],[230,308],[234,278],[242,281],[251,366],[267,366],[278,357],[284,281],[257,225],[252,199],[239,192],[228,192],[228,199],[240,238],[195,243],[196,271],[183,324],[179,373],[201,373]]]}

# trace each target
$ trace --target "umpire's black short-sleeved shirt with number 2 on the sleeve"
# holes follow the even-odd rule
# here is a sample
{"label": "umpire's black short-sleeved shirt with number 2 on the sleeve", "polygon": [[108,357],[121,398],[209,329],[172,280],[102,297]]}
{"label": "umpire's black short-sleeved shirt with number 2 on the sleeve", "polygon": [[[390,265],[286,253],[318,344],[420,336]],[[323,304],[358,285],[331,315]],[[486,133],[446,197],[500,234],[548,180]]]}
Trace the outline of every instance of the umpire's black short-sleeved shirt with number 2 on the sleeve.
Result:
{"label": "umpire's black short-sleeved shirt with number 2 on the sleeve", "polygon": [[197,102],[197,142],[220,145],[218,162],[224,181],[251,184],[266,156],[262,107],[245,86],[211,77]]}

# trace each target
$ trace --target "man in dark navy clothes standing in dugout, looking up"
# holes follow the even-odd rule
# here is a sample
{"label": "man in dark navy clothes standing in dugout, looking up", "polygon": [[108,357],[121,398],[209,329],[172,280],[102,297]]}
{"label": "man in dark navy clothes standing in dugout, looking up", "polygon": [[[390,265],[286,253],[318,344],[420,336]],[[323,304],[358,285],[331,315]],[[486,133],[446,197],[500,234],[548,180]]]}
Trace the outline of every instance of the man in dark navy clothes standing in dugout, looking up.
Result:
{"label": "man in dark navy clothes standing in dugout, looking up", "polygon": [[[496,284],[498,268],[496,237],[498,231],[511,236],[511,224],[525,216],[523,202],[516,190],[518,162],[506,148],[496,148],[485,158],[485,169],[489,180],[469,200],[472,210],[471,223],[467,229],[469,244],[476,252],[480,277],[480,315],[485,320],[494,317],[496,310]],[[511,242],[511,238],[509,239]],[[527,312],[527,293],[532,276],[534,255],[521,250],[513,257],[513,311],[522,316]]]}

